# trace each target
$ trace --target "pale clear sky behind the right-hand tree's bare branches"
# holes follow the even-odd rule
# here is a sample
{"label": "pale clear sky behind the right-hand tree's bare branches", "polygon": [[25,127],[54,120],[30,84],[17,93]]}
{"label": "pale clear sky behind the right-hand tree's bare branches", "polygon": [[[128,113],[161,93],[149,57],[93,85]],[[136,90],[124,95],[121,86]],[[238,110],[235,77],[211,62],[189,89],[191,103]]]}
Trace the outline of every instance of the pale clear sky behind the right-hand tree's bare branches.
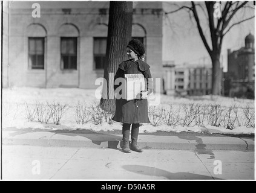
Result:
{"label": "pale clear sky behind the right-hand tree's bare branches", "polygon": [[[163,10],[166,12],[176,10],[177,7],[184,3],[190,5],[190,2],[163,2]],[[245,12],[238,11],[234,17],[234,22],[240,18],[252,16],[252,14],[255,14],[252,9]],[[204,15],[201,14],[201,17],[204,17]],[[208,23],[206,21],[201,22],[203,31],[207,34],[209,32],[209,30],[207,31]],[[227,50],[234,51],[245,46],[245,37],[249,33],[254,34],[254,32],[255,19],[251,19],[235,26],[226,34],[222,46],[223,71],[227,71]],[[176,65],[183,63],[211,64],[209,54],[199,36],[194,18],[189,19],[189,14],[186,10],[169,14],[168,18],[164,17],[163,19],[163,61],[165,60],[173,60]]]}

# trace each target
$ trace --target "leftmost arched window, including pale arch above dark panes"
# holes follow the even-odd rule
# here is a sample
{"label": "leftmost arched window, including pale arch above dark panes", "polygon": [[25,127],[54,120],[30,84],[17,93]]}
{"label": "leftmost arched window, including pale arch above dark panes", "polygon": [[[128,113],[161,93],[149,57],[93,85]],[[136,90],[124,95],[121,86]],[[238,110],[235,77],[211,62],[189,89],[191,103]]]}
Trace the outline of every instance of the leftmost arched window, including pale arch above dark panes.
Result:
{"label": "leftmost arched window, including pale arch above dark panes", "polygon": [[47,31],[40,24],[32,24],[27,27],[26,34],[28,36],[28,68],[44,69]]}

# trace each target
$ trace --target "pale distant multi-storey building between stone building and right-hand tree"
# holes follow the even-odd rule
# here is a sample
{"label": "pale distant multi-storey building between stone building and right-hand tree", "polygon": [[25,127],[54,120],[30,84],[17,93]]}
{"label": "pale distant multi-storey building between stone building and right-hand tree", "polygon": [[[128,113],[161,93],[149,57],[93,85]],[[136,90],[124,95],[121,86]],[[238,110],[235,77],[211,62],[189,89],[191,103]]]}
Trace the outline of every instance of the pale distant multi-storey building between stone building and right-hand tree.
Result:
{"label": "pale distant multi-storey building between stone building and right-hand tree", "polygon": [[164,89],[168,95],[209,95],[212,88],[210,65],[164,63]]}

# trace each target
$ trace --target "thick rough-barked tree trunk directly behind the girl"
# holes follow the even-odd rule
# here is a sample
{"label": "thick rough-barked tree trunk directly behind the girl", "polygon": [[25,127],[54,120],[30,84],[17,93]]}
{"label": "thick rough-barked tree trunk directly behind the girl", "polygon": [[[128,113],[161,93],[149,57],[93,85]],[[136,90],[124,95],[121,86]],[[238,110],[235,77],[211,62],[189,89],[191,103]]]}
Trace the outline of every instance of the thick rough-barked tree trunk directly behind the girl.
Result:
{"label": "thick rough-barked tree trunk directly behind the girl", "polygon": [[[118,65],[126,60],[126,45],[131,40],[133,2],[110,1],[108,40],[100,107],[108,112],[116,109],[114,100],[114,74]],[[106,85],[107,84],[107,85]]]}

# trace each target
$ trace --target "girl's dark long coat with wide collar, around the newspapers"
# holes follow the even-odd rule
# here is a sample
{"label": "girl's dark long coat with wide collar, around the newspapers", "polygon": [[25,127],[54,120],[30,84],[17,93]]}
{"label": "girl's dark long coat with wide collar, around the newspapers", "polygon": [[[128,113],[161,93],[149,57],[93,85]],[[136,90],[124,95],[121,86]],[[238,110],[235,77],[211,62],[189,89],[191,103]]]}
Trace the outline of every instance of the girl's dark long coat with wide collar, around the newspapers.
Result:
{"label": "girl's dark long coat with wide collar, around the newspapers", "polygon": [[[153,85],[150,83],[151,72],[149,70],[150,66],[143,62],[142,60],[126,60],[125,62],[120,63],[119,68],[117,69],[116,78],[125,78],[125,74],[143,74],[146,78],[146,90],[149,93],[153,92]],[[114,89],[116,90],[119,85],[115,85]],[[143,90],[143,91],[146,91]],[[131,100],[126,101],[125,99],[116,99],[116,113],[113,117],[114,121],[123,122],[128,124],[133,123],[149,123],[148,118],[148,100]]]}

